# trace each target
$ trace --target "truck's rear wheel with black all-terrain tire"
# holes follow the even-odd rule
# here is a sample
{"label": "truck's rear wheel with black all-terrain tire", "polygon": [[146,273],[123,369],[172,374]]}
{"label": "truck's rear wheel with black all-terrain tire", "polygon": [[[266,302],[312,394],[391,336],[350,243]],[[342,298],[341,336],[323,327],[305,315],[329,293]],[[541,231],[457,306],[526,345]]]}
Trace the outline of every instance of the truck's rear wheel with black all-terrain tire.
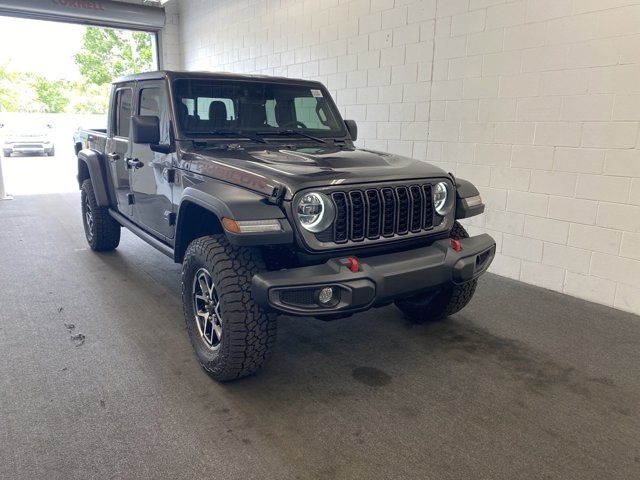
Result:
{"label": "truck's rear wheel with black all-terrain tire", "polygon": [[99,207],[91,180],[82,182],[81,189],[82,225],[87,243],[95,252],[108,252],[120,244],[120,224],[116,222],[109,209]]}

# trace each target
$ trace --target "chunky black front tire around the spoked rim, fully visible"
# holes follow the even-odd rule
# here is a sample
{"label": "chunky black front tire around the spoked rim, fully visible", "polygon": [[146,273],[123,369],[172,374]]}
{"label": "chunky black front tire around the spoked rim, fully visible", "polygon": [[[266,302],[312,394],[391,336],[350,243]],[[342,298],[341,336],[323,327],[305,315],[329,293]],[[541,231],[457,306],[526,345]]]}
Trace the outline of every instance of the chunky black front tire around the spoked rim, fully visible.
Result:
{"label": "chunky black front tire around the spoked rim, fully visible", "polygon": [[[222,334],[217,346],[207,344],[196,323],[194,278],[205,269],[219,301]],[[251,297],[251,279],[265,266],[258,251],[231,245],[224,235],[197,238],[187,248],[182,266],[182,304],[187,332],[202,368],[226,382],[258,371],[276,341],[276,315]]]}

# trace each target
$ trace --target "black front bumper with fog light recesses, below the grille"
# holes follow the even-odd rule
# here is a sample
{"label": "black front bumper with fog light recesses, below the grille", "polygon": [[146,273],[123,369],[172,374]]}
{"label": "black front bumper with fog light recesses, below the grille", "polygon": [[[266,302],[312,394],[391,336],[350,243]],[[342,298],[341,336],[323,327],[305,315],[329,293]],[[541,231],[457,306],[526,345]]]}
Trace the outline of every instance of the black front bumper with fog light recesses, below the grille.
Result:
{"label": "black front bumper with fog light recesses, below the grille", "polygon": [[[487,234],[460,240],[439,240],[431,246],[358,260],[352,271],[348,258],[321,265],[262,272],[253,277],[252,294],[263,308],[293,315],[326,316],[353,313],[398,298],[468,282],[491,264],[496,242]],[[328,306],[319,302],[324,287],[334,289]]]}

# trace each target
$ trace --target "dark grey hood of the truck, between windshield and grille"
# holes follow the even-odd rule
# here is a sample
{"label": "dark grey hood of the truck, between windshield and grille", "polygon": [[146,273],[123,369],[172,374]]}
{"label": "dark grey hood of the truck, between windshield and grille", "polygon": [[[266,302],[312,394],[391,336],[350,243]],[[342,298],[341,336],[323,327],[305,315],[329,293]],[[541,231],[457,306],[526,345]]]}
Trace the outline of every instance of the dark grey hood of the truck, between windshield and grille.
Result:
{"label": "dark grey hood of the truck, between windshield and grille", "polygon": [[401,155],[326,145],[190,148],[183,151],[183,160],[194,173],[266,195],[281,184],[287,188],[287,199],[310,187],[449,177],[434,165]]}

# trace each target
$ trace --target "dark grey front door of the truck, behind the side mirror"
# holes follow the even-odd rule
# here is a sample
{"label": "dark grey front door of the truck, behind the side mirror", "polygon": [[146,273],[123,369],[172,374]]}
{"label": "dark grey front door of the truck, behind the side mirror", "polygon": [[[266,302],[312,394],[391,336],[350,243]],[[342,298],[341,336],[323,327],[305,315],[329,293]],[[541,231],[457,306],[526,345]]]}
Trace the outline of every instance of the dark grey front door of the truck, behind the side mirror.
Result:
{"label": "dark grey front door of the truck, behind the side mirror", "polygon": [[[160,143],[170,143],[169,104],[163,82],[138,83],[136,114],[158,117]],[[131,167],[134,221],[160,237],[173,238],[171,168],[174,154],[154,152],[147,144],[132,143],[131,158],[135,165]]]}

